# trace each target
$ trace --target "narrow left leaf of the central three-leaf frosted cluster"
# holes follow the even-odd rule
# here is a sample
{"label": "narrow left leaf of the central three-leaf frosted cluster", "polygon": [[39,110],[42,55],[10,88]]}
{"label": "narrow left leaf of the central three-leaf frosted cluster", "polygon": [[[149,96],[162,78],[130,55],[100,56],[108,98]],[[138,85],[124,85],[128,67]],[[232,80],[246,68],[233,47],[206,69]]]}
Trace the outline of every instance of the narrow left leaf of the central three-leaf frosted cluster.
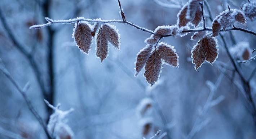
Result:
{"label": "narrow left leaf of the central three-leaf frosted cluster", "polygon": [[136,61],[135,61],[136,72],[134,76],[137,76],[138,73],[146,64],[147,59],[149,58],[150,53],[152,51],[152,48],[153,48],[153,45],[147,45],[145,48],[141,49],[140,52],[137,54]]}

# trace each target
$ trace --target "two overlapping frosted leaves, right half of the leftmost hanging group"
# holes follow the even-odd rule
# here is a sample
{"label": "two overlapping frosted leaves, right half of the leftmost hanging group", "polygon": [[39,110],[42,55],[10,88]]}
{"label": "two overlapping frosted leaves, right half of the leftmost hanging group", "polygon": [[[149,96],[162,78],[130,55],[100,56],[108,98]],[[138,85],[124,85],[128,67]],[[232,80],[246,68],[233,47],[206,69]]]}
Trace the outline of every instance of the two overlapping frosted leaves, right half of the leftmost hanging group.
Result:
{"label": "two overlapping frosted leaves, right half of the leftmost hanging group", "polygon": [[101,59],[101,62],[107,57],[109,52],[108,43],[111,43],[115,48],[119,49],[120,35],[114,26],[103,24],[100,26],[96,35],[96,56]]}

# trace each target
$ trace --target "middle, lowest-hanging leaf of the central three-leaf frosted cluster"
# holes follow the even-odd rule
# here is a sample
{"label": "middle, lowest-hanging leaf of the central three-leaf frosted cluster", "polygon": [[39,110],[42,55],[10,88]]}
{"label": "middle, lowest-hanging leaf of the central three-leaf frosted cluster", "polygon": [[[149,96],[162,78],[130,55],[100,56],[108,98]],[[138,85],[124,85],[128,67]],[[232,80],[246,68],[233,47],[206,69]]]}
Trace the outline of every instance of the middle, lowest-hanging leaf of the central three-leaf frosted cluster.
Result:
{"label": "middle, lowest-hanging leaf of the central three-leaf frosted cluster", "polygon": [[146,62],[144,76],[152,86],[158,80],[162,68],[162,60],[158,52],[154,50]]}

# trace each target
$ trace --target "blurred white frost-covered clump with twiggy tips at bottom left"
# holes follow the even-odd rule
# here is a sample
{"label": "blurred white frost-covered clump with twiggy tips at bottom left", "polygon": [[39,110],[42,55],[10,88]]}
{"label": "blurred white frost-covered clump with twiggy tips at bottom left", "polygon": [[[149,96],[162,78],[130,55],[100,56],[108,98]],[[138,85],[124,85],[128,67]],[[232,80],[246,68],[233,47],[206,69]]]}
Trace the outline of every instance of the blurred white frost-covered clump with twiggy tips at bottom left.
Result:
{"label": "blurred white frost-covered clump with twiggy tips at bottom left", "polygon": [[67,111],[59,110],[60,104],[56,107],[49,104],[47,100],[44,100],[45,103],[54,110],[54,113],[50,116],[47,128],[51,135],[53,135],[56,139],[72,139],[74,136],[73,131],[67,125],[66,116],[70,114],[74,109],[70,109]]}

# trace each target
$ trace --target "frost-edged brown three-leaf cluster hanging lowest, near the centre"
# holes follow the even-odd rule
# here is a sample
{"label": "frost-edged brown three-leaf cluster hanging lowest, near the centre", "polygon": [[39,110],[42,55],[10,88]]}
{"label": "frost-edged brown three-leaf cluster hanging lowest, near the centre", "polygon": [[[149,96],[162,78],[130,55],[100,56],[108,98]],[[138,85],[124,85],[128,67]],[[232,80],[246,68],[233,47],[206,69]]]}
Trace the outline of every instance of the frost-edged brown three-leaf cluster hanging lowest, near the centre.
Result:
{"label": "frost-edged brown three-leaf cluster hanging lowest, near the centre", "polygon": [[135,62],[135,76],[145,66],[144,76],[151,86],[158,80],[163,63],[178,67],[178,55],[173,46],[161,42],[151,53],[152,49],[153,45],[147,45],[137,54]]}

